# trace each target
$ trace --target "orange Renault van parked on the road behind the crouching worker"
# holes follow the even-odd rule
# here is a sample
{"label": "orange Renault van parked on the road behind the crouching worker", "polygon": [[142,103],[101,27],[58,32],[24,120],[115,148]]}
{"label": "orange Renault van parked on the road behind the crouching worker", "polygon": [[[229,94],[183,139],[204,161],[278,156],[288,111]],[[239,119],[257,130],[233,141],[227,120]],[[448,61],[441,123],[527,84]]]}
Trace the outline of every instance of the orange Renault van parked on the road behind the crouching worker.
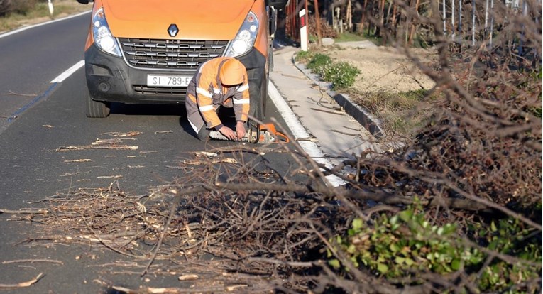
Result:
{"label": "orange Renault van parked on the road behind the crouching worker", "polygon": [[251,115],[263,119],[275,11],[287,1],[95,0],[84,48],[87,116],[108,116],[111,102],[183,103],[199,65],[231,56],[247,69]]}

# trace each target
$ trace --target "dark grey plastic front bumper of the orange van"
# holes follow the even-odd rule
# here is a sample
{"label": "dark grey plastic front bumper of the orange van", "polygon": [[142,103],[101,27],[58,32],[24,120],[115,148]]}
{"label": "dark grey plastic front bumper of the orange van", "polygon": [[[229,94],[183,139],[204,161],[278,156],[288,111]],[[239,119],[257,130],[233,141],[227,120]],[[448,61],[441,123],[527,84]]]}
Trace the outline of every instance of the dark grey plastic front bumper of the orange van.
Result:
{"label": "dark grey plastic front bumper of the orange van", "polygon": [[[85,74],[89,94],[95,101],[126,104],[175,104],[184,103],[185,87],[148,87],[147,75],[187,75],[195,71],[144,70],[130,67],[123,58],[99,50],[95,45],[85,52]],[[265,76],[266,58],[253,48],[238,57],[245,65],[251,99],[260,97],[260,85]]]}

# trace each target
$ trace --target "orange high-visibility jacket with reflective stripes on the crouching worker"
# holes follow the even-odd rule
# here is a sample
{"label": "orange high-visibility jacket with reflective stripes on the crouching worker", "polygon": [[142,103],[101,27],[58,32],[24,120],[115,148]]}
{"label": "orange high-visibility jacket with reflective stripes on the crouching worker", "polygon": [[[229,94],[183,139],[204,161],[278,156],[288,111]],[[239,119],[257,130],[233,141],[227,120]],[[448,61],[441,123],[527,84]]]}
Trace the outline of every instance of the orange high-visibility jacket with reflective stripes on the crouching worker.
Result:
{"label": "orange high-visibility jacket with reflective stripes on the crouching worker", "polygon": [[191,104],[198,107],[208,128],[221,124],[216,109],[219,106],[234,107],[236,121],[247,121],[249,112],[249,84],[247,71],[243,70],[243,82],[235,87],[224,87],[219,80],[221,66],[231,58],[214,58],[202,64],[192,77],[187,87],[187,98],[194,103],[187,103],[187,114],[192,110]]}

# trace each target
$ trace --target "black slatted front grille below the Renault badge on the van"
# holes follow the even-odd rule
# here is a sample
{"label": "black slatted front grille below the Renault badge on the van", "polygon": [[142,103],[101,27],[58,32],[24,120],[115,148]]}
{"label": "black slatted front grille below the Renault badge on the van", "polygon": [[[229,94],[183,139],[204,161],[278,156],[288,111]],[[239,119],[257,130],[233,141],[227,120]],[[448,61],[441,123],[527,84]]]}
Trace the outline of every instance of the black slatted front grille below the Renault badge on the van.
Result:
{"label": "black slatted front grille below the Renault badge on the van", "polygon": [[222,56],[227,40],[156,40],[119,38],[128,65],[158,70],[196,70]]}

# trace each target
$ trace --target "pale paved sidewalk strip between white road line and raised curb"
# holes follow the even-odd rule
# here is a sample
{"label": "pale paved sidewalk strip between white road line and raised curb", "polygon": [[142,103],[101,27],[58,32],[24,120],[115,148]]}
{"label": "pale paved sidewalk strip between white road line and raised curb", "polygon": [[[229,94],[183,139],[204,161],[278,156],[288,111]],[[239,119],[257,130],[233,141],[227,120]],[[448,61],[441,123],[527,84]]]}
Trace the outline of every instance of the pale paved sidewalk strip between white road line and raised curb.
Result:
{"label": "pale paved sidewalk strip between white road line and raised curb", "polygon": [[285,46],[274,51],[270,80],[294,111],[331,163],[353,158],[368,148],[375,148],[375,138],[352,116],[331,99],[328,84],[309,79],[292,63],[297,48]]}

